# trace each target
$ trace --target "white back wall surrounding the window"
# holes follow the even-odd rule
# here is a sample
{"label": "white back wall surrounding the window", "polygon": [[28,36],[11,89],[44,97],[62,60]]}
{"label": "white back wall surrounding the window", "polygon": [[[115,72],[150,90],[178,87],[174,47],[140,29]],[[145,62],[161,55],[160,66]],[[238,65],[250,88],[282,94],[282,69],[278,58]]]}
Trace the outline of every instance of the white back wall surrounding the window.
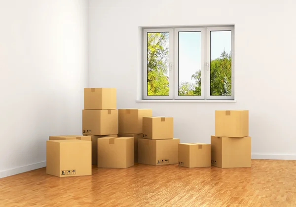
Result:
{"label": "white back wall surrounding the window", "polygon": [[[173,116],[182,142],[210,142],[216,109],[249,109],[253,158],[296,159],[295,0],[90,0],[89,86],[118,108]],[[235,24],[236,103],[136,103],[140,26]]]}

